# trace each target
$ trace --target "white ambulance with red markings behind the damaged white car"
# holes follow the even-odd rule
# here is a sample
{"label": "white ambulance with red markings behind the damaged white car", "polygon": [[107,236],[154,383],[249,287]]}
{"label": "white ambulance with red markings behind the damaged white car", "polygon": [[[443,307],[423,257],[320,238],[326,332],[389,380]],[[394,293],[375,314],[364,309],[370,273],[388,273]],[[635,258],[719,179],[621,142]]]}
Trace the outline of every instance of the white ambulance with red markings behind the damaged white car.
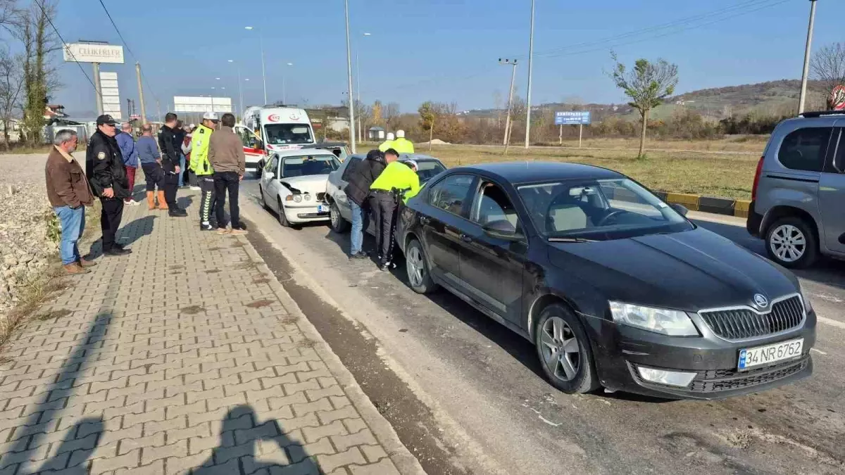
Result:
{"label": "white ambulance with red markings behind the damaged white car", "polygon": [[308,113],[294,107],[248,107],[235,133],[243,143],[247,169],[256,175],[273,152],[301,149],[316,141]]}

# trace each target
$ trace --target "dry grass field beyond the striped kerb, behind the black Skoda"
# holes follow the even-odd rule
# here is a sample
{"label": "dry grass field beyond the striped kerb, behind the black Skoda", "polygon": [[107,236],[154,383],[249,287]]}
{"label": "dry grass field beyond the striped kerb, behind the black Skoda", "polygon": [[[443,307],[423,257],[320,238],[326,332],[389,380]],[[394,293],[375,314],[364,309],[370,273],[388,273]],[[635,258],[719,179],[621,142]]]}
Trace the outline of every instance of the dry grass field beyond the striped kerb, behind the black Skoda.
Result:
{"label": "dry grass field beyond the striped kerb, behind the black Skoda", "polygon": [[[434,145],[431,153],[447,167],[523,160],[586,163],[622,172],[658,191],[750,199],[755,167],[766,141],[765,138],[755,138],[741,142],[651,142],[652,149],[678,151],[647,151],[646,160],[636,158],[636,150],[630,150],[632,145],[637,145],[636,140],[592,140],[589,146],[596,148],[590,150],[559,147],[533,147],[525,150],[521,146],[511,146],[508,156],[502,155],[501,146]],[[584,146],[588,146],[586,142]],[[428,145],[417,145],[417,152],[428,153]]]}

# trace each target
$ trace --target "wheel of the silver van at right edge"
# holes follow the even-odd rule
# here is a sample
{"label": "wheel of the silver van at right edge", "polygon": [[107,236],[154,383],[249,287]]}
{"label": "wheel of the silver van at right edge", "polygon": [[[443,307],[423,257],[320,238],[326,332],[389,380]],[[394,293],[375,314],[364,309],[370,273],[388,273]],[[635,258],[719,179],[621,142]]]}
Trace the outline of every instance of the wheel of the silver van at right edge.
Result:
{"label": "wheel of the silver van at right edge", "polygon": [[803,269],[819,258],[819,238],[804,219],[785,216],[766,230],[766,253],[777,264]]}

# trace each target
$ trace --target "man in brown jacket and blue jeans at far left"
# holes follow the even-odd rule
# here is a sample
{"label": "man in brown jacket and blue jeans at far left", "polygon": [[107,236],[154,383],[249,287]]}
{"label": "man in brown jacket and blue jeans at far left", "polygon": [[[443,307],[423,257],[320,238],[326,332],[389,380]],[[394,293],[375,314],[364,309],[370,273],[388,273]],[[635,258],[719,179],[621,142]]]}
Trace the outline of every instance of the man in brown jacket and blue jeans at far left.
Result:
{"label": "man in brown jacket and blue jeans at far left", "polygon": [[47,199],[62,223],[59,254],[62,255],[62,264],[68,274],[85,274],[89,271],[86,267],[95,265],[94,262],[82,259],[77,246],[85,229],[85,206],[94,203],[85,172],[71,155],[78,141],[73,130],[58,132],[44,169]]}

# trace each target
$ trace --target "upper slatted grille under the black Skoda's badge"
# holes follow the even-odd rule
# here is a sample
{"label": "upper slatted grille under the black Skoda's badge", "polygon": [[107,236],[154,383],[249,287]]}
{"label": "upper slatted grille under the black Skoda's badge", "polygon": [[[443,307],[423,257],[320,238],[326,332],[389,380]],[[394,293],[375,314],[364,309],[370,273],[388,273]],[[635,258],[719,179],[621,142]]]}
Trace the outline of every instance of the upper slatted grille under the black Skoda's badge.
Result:
{"label": "upper slatted grille under the black Skoda's badge", "polygon": [[758,314],[750,308],[700,312],[701,319],[717,336],[740,340],[766,336],[795,328],[804,319],[804,305],[799,296],[787,298],[771,305],[767,314]]}

